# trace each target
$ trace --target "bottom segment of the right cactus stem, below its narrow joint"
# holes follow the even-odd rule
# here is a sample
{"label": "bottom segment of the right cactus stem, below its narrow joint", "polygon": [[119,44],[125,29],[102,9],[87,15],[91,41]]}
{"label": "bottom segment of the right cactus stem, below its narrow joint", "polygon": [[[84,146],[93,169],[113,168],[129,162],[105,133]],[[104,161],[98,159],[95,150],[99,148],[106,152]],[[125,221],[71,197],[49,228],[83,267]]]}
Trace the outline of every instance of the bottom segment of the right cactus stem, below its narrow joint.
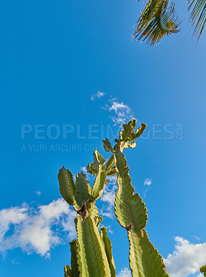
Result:
{"label": "bottom segment of the right cactus stem, below its narrow joint", "polygon": [[169,277],[165,271],[162,256],[149,241],[147,232],[143,229],[139,235],[128,231],[129,265],[133,277]]}

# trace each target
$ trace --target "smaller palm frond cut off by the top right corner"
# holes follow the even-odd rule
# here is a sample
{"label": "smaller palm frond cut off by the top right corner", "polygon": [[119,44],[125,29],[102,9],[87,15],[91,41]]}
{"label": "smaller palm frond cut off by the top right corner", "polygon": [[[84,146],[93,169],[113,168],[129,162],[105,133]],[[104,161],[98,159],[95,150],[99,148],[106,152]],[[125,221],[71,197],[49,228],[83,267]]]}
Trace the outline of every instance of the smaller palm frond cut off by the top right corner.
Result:
{"label": "smaller palm frond cut off by the top right corner", "polygon": [[198,36],[198,41],[206,24],[206,0],[189,0],[188,3],[188,10],[193,8],[189,20],[192,25],[196,23],[193,36]]}

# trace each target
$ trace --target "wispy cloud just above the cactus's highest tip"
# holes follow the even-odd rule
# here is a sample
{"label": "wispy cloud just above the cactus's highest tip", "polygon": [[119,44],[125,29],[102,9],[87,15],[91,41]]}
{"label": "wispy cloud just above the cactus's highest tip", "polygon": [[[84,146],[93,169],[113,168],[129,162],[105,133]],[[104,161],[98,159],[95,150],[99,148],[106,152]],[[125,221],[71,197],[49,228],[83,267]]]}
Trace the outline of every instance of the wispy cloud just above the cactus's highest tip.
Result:
{"label": "wispy cloud just above the cactus's highest tip", "polygon": [[134,118],[131,107],[124,104],[124,102],[118,102],[116,98],[109,100],[109,104],[106,104],[102,109],[111,112],[111,119],[113,120],[114,125],[128,123],[129,120]]}

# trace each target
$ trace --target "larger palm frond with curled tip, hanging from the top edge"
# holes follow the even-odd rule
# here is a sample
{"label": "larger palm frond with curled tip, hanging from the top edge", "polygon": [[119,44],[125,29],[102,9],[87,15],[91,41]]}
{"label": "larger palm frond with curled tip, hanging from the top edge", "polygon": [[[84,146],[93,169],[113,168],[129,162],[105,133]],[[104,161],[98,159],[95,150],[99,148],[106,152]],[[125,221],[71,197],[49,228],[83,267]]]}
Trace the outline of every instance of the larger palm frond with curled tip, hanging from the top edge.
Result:
{"label": "larger palm frond with curled tip, hanging from the top edge", "polygon": [[167,8],[168,0],[149,0],[142,15],[137,21],[137,27],[133,37],[144,41],[152,47],[158,44],[165,35],[178,33],[180,20],[174,3]]}

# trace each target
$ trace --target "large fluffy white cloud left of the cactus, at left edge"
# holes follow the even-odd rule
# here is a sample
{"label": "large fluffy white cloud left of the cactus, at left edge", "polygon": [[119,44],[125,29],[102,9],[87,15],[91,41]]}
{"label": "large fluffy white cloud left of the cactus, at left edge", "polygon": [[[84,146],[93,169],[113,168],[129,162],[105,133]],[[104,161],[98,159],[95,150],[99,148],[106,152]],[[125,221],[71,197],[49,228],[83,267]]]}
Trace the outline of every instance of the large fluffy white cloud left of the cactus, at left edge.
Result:
{"label": "large fluffy white cloud left of the cactus, at left edge", "polygon": [[26,253],[49,256],[50,248],[63,243],[53,228],[62,229],[69,238],[75,238],[75,214],[63,199],[37,209],[27,204],[5,208],[0,211],[0,251],[4,253],[19,247]]}

